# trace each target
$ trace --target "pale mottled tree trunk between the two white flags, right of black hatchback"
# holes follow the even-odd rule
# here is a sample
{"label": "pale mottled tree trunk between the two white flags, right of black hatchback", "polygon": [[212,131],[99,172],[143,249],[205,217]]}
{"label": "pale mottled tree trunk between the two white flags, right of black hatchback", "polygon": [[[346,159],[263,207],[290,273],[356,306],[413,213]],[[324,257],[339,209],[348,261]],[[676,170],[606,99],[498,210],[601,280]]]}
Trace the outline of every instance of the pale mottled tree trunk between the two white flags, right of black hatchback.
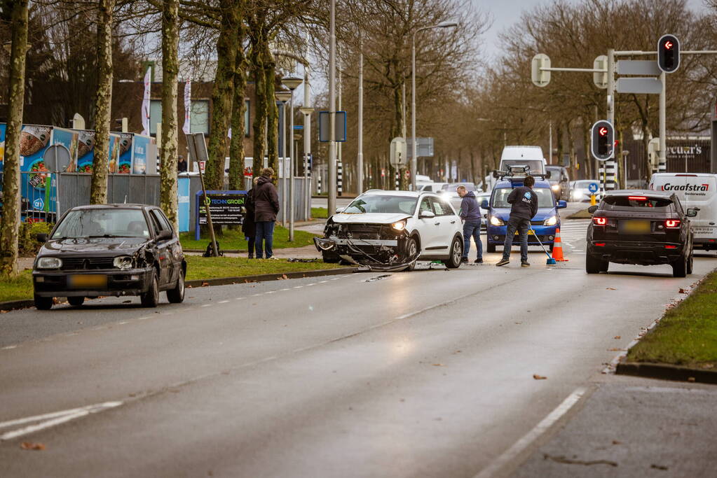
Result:
{"label": "pale mottled tree trunk between the two white flags, right of black hatchback", "polygon": [[177,76],[179,0],[164,0],[162,12],[162,150],[159,204],[179,233],[177,214]]}

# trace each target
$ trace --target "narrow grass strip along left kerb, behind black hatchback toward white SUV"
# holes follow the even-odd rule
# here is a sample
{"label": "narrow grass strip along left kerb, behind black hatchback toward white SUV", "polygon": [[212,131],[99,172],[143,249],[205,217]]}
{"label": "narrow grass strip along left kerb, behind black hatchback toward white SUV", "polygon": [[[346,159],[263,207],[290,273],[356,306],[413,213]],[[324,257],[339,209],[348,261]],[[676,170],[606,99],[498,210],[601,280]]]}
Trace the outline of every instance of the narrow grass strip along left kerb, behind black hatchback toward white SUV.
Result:
{"label": "narrow grass strip along left kerb, behind black hatchback toward white SUV", "polygon": [[[338,264],[325,264],[320,260],[302,263],[287,260],[203,258],[198,255],[186,255],[185,258],[187,281],[343,267]],[[16,278],[0,279],[0,302],[30,299],[32,299],[32,270],[23,270]]]}

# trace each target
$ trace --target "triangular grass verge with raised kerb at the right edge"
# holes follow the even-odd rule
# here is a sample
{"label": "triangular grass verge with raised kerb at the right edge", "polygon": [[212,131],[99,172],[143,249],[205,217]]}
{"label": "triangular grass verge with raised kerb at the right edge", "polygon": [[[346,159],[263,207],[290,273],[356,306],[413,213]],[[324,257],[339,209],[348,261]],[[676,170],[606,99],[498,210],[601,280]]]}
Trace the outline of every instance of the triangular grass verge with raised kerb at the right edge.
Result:
{"label": "triangular grass verge with raised kerb at the right edge", "polygon": [[717,273],[708,275],[684,301],[671,309],[630,348],[629,362],[650,362],[712,369],[717,366]]}

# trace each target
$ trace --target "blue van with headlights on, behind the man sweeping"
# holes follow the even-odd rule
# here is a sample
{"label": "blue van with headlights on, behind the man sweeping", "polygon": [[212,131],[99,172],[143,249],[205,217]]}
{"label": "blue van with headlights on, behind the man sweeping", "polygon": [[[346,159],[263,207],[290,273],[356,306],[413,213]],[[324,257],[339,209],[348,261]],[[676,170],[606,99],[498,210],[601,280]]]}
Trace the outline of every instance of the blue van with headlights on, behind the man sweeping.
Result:
{"label": "blue van with headlights on, behind the man sweeping", "polygon": [[[483,200],[480,207],[488,210],[487,236],[488,245],[487,252],[494,253],[495,246],[502,246],[505,242],[505,228],[508,218],[511,215],[511,205],[508,203],[508,195],[515,187],[523,185],[525,177],[509,177],[498,181],[493,187],[493,194],[490,196],[490,202]],[[531,228],[528,230],[528,245],[540,245],[535,238],[541,240],[546,248],[553,250],[555,242],[555,231],[560,227],[559,209],[567,208],[568,203],[563,200],[555,200],[553,191],[550,188],[550,182],[536,177],[536,183],[533,191],[538,195],[538,213],[531,220]],[[533,233],[533,231],[535,231]],[[513,242],[513,246],[520,246],[518,238]]]}

